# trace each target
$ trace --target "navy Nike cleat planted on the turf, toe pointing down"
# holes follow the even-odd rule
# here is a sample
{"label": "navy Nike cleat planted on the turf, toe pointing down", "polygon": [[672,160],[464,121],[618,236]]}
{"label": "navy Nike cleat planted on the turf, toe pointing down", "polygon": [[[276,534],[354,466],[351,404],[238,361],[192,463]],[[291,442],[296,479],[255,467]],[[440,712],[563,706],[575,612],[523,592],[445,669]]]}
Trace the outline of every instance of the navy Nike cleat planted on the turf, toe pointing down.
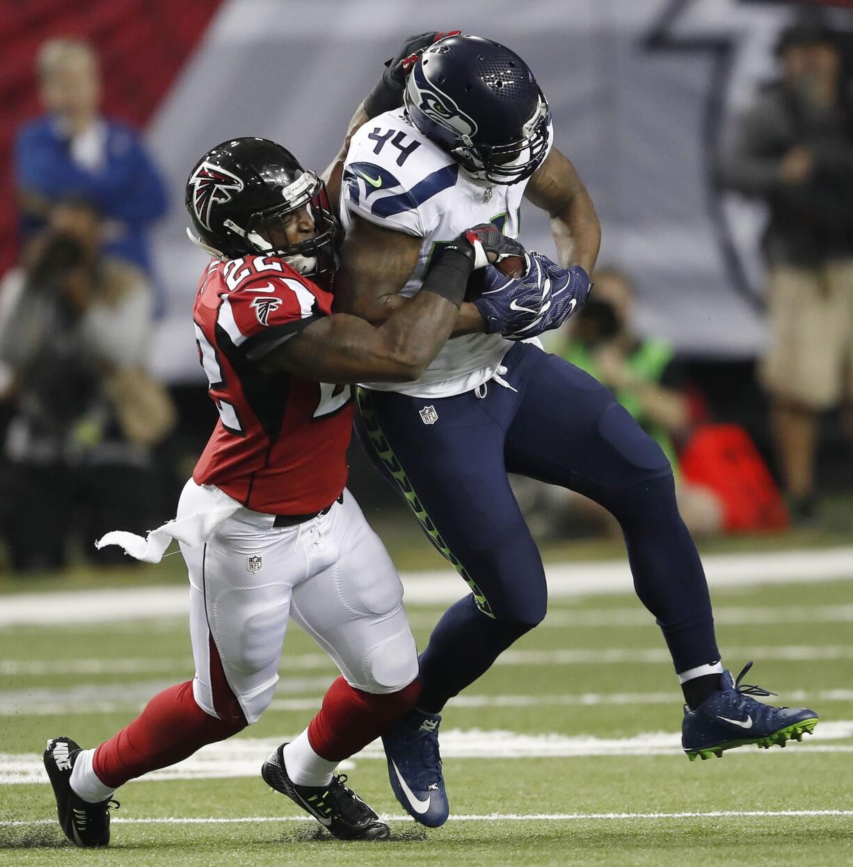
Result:
{"label": "navy Nike cleat planted on the turf, toe pointing down", "polygon": [[416,708],[382,736],[391,789],[411,818],[428,828],[443,825],[450,813],[438,753],[441,721],[441,714]]}

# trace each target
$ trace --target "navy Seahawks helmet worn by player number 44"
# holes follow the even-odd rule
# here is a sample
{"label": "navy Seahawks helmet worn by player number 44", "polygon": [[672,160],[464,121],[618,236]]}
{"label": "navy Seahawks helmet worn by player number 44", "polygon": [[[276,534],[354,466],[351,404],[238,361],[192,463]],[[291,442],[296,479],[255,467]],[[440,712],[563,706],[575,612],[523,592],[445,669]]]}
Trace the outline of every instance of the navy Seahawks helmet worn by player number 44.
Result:
{"label": "navy Seahawks helmet worn by player number 44", "polygon": [[410,121],[475,178],[527,179],[548,153],[551,113],[521,57],[481,36],[449,36],[423,52],[404,94]]}

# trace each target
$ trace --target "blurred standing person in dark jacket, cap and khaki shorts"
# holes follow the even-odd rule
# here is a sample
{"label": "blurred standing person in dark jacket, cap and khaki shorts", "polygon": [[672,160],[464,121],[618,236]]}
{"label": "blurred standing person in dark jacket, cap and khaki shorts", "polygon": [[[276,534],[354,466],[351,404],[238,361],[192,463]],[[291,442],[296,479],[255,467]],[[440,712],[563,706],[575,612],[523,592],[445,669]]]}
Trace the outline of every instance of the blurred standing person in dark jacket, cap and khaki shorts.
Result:
{"label": "blurred standing person in dark jacket, cap and khaki shorts", "polygon": [[762,365],[795,522],[814,518],[818,414],[853,430],[853,111],[836,35],[801,23],[778,42],[782,77],[739,120],[725,186],[764,200],[771,342]]}

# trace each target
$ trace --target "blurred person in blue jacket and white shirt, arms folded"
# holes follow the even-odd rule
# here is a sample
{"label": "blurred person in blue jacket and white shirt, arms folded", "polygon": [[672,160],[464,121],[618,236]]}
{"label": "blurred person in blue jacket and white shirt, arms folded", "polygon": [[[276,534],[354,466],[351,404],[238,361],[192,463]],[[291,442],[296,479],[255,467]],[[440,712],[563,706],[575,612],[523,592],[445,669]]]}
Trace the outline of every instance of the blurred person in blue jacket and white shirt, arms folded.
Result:
{"label": "blurred person in blue jacket and white shirt, arms folded", "polygon": [[87,200],[104,219],[108,254],[151,274],[146,231],[167,208],[160,173],[140,137],[99,114],[101,79],[92,49],[51,39],[38,54],[47,114],[16,138],[16,186],[23,239],[45,224],[50,205]]}

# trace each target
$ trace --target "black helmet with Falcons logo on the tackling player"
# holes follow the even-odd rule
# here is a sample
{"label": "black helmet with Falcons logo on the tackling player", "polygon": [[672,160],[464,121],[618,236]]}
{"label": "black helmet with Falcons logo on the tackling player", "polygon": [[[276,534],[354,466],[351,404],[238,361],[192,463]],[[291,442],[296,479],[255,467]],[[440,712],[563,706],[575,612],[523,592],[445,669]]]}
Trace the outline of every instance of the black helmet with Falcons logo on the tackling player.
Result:
{"label": "black helmet with Falcons logo on the tackling player", "polygon": [[[187,179],[186,205],[198,238],[189,229],[187,234],[214,256],[280,256],[307,277],[338,267],[344,230],[325,184],[274,141],[231,139],[208,151]],[[273,247],[264,227],[300,208],[311,214],[314,236]]]}

